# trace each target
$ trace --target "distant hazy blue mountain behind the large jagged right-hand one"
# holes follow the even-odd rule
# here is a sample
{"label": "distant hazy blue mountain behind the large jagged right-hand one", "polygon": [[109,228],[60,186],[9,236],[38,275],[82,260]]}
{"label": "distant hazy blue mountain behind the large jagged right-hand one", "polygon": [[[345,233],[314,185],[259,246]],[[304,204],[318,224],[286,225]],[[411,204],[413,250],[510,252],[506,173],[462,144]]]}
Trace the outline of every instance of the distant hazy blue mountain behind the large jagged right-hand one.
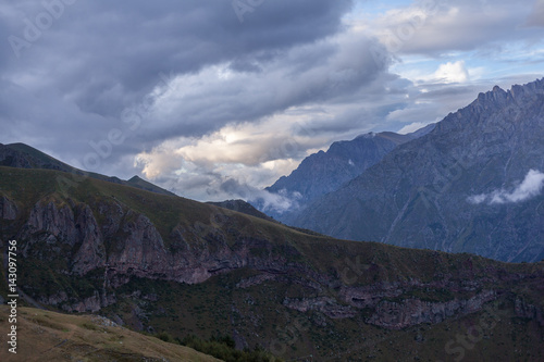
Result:
{"label": "distant hazy blue mountain behind the large jagged right-hand one", "polygon": [[[392,132],[370,133],[350,141],[334,142],[326,152],[319,151],[307,157],[290,175],[282,176],[267,190],[297,199],[299,208],[304,209],[317,198],[337,190],[348,180],[359,176],[397,146],[421,137],[433,128],[434,124],[431,124],[408,135]],[[286,223],[293,217],[292,214],[279,213],[273,216]]]}

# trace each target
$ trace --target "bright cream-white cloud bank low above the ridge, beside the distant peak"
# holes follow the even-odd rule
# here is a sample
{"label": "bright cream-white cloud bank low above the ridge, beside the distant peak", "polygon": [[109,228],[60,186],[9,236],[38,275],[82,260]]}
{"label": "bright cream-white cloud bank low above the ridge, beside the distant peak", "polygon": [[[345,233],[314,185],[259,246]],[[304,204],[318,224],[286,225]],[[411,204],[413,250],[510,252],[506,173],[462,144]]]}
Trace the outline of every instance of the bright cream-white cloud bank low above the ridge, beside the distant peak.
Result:
{"label": "bright cream-white cloud bank low above the ridge, beside the distant peak", "polygon": [[[272,120],[271,120],[272,121]],[[136,158],[135,166],[162,187],[201,201],[243,199],[263,210],[283,212],[296,204],[296,197],[270,194],[263,188],[298,164],[285,152],[304,151],[311,140],[297,138],[285,142],[288,129],[276,129],[277,137],[267,137],[255,124],[227,126],[203,138],[177,138],[165,141]],[[285,138],[282,138],[284,136]]]}

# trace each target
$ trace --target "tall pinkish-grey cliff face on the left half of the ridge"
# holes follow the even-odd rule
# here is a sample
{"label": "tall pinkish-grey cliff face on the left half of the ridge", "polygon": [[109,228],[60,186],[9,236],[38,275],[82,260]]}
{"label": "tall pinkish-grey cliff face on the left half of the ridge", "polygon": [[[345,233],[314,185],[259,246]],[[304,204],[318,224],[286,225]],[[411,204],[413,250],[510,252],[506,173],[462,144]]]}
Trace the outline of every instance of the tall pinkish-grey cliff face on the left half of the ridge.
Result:
{"label": "tall pinkish-grey cliff face on the left half of the ridge", "polygon": [[[256,258],[249,252],[258,248],[264,255],[270,253],[272,245],[264,239],[246,237],[228,245],[221,228],[197,222],[190,227],[177,225],[169,236],[166,248],[146,215],[115,201],[98,202],[95,207],[101,225],[88,204],[76,204],[72,200],[65,204],[38,201],[15,237],[24,240],[24,257],[47,260],[71,250],[70,264],[63,272],[85,275],[106,267],[116,284],[123,283],[121,275],[193,284],[223,270],[248,265],[285,269],[282,263],[285,259],[281,255]],[[4,219],[7,216],[13,215],[4,214]],[[226,224],[228,215],[222,217]]]}

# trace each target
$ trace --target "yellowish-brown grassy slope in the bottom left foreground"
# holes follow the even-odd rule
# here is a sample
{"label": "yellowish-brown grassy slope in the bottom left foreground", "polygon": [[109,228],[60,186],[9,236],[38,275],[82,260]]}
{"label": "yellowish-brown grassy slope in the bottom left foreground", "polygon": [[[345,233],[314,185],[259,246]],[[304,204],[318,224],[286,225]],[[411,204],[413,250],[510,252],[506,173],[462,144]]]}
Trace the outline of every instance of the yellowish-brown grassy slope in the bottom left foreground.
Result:
{"label": "yellowish-brown grassy slope in the bottom left foreground", "polygon": [[17,354],[4,341],[10,324],[0,305],[0,361],[220,361],[190,348],[119,326],[104,326],[90,315],[66,315],[20,307]]}

